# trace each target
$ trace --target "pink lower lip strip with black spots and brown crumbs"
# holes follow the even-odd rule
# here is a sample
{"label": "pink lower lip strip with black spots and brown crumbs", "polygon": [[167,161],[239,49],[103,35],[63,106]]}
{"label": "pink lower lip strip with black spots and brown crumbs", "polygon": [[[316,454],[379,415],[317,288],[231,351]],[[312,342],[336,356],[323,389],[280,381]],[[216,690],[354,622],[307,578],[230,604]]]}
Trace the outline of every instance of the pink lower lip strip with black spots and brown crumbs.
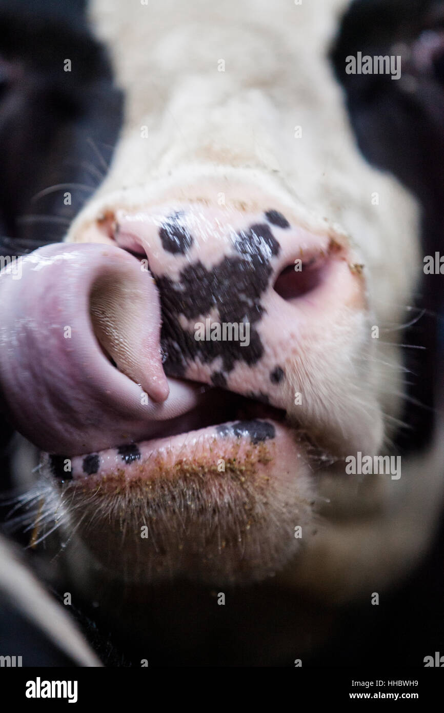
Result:
{"label": "pink lower lip strip with black spots and brown crumbs", "polygon": [[[100,492],[162,478],[259,476],[287,480],[303,458],[293,429],[274,419],[229,421],[188,431],[108,448],[68,461],[46,456],[61,481]],[[69,470],[71,468],[71,471]]]}

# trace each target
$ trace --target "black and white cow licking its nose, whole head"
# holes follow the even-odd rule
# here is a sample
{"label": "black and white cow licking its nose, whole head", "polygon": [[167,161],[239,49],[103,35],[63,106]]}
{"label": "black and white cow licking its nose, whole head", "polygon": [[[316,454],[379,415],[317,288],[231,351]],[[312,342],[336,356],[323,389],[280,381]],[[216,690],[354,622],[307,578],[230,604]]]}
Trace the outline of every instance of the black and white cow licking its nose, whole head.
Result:
{"label": "black and white cow licking its nose, whole head", "polygon": [[440,34],[346,5],[0,7],[5,483],[109,665],[294,665],[435,531],[435,337],[404,327],[437,309]]}

